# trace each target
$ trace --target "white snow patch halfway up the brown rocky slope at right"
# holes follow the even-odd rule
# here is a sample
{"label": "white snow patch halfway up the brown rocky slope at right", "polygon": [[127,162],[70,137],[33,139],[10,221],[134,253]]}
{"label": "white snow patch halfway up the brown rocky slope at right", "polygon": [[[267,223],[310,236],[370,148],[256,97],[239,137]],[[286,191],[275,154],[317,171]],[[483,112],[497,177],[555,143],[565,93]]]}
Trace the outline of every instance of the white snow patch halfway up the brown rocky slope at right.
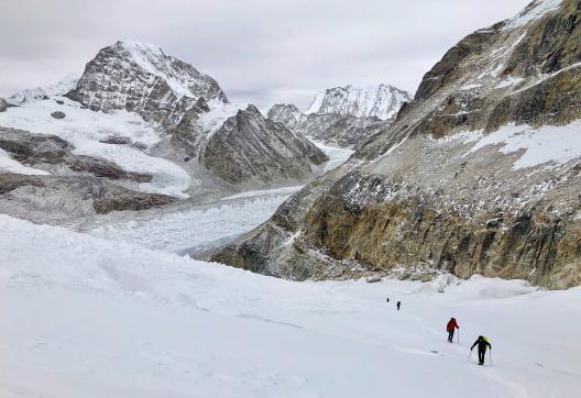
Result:
{"label": "white snow patch halfway up the brown rocky slope at right", "polygon": [[568,125],[544,125],[535,129],[529,125],[507,124],[497,131],[482,135],[474,132],[468,136],[481,136],[469,153],[474,153],[487,145],[500,145],[504,154],[522,151],[513,169],[538,165],[559,166],[581,157],[581,121]]}

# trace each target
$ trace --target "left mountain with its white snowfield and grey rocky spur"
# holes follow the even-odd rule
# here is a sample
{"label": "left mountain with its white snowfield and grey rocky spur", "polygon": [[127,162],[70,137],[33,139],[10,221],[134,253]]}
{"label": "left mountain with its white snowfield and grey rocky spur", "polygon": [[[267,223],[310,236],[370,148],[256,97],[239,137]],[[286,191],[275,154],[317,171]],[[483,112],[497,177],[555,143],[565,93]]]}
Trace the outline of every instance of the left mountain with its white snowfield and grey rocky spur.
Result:
{"label": "left mountain with its white snowfield and grey rocky spur", "polygon": [[[266,120],[254,107],[229,103],[210,76],[157,46],[135,41],[99,51],[78,80],[66,78],[47,88],[23,90],[10,97],[2,110],[2,157],[39,170],[34,181],[23,179],[19,189],[48,181],[43,185],[42,207],[23,200],[21,194],[26,194],[19,189],[3,191],[0,201],[18,197],[30,203],[20,215],[90,213],[86,206],[75,208],[69,191],[77,185],[59,185],[59,178],[98,177],[108,180],[99,183],[106,187],[101,191],[120,186],[139,191],[140,198],[143,194],[184,198],[296,185],[321,173],[327,161],[309,140]],[[67,150],[33,156],[53,137]],[[21,156],[22,151],[28,155]],[[3,169],[18,168],[12,164]],[[168,201],[155,197],[149,202]],[[63,212],[59,206],[75,211]]]}

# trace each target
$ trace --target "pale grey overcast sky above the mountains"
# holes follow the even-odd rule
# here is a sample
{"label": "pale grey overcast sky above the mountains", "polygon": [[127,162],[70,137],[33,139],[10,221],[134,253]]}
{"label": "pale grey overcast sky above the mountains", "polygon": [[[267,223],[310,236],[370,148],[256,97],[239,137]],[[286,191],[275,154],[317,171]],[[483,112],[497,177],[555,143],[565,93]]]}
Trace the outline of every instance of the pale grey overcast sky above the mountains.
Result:
{"label": "pale grey overcast sky above the mountains", "polygon": [[460,38],[529,1],[0,0],[0,97],[80,74],[124,37],[160,45],[259,107],[306,107],[346,84],[414,92]]}

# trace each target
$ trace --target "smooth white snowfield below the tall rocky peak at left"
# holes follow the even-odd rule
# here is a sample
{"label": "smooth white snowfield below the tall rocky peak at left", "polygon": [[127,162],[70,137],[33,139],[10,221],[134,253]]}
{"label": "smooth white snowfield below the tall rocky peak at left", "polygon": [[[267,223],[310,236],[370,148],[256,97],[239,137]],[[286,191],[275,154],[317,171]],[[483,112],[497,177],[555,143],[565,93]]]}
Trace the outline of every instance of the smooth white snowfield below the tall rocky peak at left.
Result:
{"label": "smooth white snowfield below the tall rocky peak at left", "polygon": [[[64,101],[58,104],[56,100]],[[62,111],[65,119],[51,117]],[[153,175],[153,180],[140,184],[144,192],[165,194],[185,197],[190,178],[178,165],[149,155],[130,145],[105,144],[109,136],[125,136],[134,143],[152,146],[160,142],[160,133],[135,113],[123,110],[109,113],[83,109],[79,103],[64,97],[53,97],[44,101],[9,108],[0,113],[0,125],[22,129],[37,134],[54,134],[70,142],[74,153],[113,162],[128,172]]]}

